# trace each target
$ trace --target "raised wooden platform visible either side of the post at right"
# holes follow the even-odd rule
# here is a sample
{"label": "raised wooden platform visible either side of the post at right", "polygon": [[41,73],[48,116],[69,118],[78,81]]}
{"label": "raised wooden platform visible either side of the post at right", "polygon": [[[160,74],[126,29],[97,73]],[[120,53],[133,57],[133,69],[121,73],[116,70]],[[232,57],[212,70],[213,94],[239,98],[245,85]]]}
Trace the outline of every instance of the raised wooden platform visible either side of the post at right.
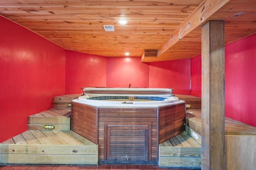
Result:
{"label": "raised wooden platform visible either side of the post at right", "polygon": [[[202,130],[201,109],[189,109],[188,131],[199,135]],[[191,135],[193,138],[194,136]],[[256,167],[256,127],[225,117],[226,170],[251,170]]]}

